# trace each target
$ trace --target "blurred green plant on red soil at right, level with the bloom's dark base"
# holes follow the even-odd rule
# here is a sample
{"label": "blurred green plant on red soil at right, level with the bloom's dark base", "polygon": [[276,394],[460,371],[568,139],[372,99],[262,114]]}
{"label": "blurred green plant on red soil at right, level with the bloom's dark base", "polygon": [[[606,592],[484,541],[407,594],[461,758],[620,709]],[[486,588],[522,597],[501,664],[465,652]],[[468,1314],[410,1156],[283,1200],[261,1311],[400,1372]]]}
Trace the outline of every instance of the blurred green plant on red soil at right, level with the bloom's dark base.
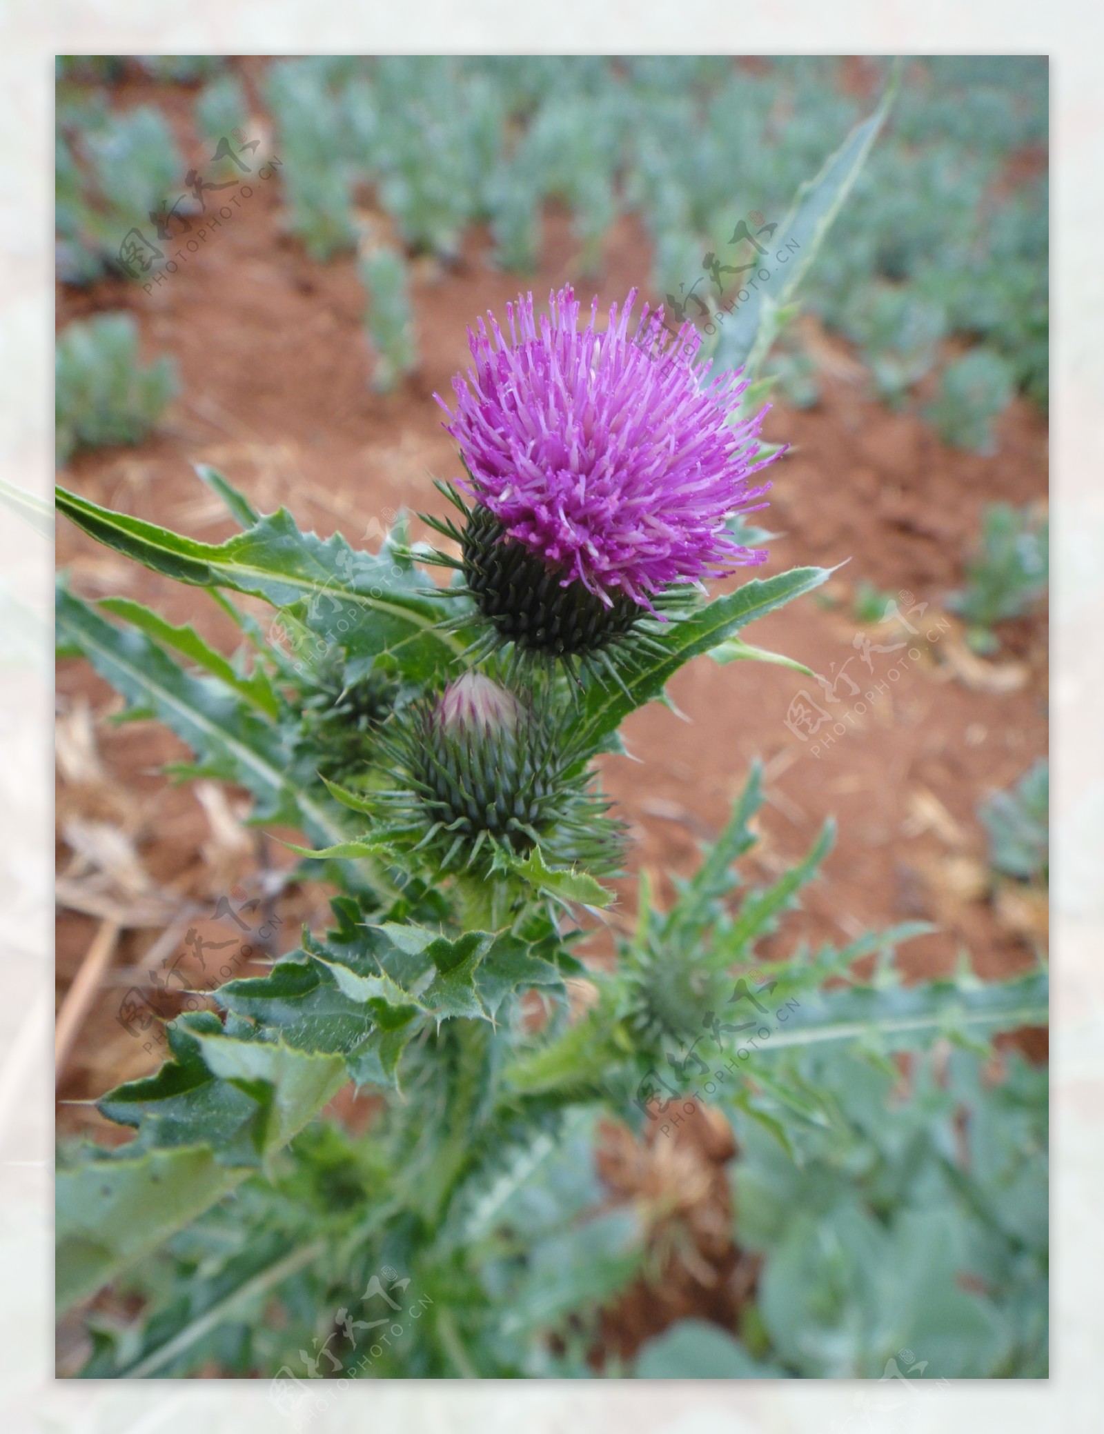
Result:
{"label": "blurred green plant on red soil at right, level with the bloom's dark base", "polygon": [[1050,522],[1032,506],[989,503],[982,516],[981,543],[966,564],[966,587],[948,594],[946,605],[966,624],[966,641],[976,652],[999,647],[998,622],[1031,612],[1050,582]]}

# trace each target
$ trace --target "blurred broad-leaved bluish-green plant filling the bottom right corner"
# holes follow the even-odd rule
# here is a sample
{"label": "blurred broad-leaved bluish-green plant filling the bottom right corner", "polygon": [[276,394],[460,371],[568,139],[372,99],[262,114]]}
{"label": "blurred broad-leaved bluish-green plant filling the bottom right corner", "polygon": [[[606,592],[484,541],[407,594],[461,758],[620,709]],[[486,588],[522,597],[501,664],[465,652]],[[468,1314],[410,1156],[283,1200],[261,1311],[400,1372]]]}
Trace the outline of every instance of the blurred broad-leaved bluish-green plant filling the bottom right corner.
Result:
{"label": "blurred broad-leaved bluish-green plant filling the bottom right corner", "polygon": [[1047,1070],[1012,1051],[995,1076],[984,1050],[943,1043],[905,1073],[860,1045],[794,1050],[771,1073],[787,1064],[832,1120],[787,1153],[733,1111],[754,1301],[738,1331],[672,1326],[637,1377],[1045,1378]]}

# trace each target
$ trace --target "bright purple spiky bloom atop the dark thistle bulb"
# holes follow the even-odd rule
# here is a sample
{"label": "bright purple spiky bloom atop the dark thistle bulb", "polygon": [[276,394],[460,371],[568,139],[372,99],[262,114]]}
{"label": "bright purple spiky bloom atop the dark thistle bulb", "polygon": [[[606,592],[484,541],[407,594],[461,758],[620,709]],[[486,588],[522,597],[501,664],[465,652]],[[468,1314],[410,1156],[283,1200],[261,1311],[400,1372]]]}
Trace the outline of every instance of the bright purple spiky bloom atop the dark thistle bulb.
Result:
{"label": "bright purple spiky bloom atop the dark thistle bulb", "polygon": [[[533,297],[506,305],[510,338],[493,314],[469,330],[475,370],[453,380],[450,422],[469,478],[459,486],[499,521],[561,587],[581,582],[611,607],[614,597],[655,612],[654,594],[746,564],[764,549],[746,548],[724,528],[753,512],[768,483],[753,486],[764,407],[743,423],[728,414],[747,387],[738,373],[703,384],[695,366],[700,337],[685,324],[664,337],[662,310],[645,305],[628,334],[632,290],[618,317],[595,330],[598,300],[579,331],[572,290],[551,295],[538,321]],[[777,455],[776,455],[777,456]]]}

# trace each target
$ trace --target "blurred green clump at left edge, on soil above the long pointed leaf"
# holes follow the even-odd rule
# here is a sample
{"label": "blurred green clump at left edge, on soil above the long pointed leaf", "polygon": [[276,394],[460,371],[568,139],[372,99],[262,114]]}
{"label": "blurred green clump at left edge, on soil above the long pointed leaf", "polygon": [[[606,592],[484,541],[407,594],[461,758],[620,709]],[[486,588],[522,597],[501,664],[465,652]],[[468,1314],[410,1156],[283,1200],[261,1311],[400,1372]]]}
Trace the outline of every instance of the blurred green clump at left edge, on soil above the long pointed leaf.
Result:
{"label": "blurred green clump at left edge, on soil above the long pointed leaf", "polygon": [[141,361],[130,314],[97,314],[69,324],[54,356],[57,466],[82,447],[141,443],[176,393],[171,358]]}

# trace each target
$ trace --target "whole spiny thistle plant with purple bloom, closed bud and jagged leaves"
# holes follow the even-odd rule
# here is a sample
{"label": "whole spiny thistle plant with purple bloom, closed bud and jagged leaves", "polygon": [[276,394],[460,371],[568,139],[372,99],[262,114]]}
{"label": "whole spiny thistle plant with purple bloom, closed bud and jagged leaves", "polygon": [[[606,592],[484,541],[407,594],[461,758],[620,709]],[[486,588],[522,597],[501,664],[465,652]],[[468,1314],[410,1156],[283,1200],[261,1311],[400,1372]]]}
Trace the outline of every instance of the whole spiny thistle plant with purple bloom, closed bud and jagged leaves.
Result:
{"label": "whole spiny thistle plant with purple bloom, closed bud and jagged leaves", "polygon": [[[809,204],[823,215],[830,198]],[[586,959],[614,905],[605,878],[627,865],[598,759],[691,658],[771,658],[743,630],[829,576],[801,566],[708,594],[711,575],[760,558],[728,526],[764,493],[761,414],[733,413],[753,373],[704,379],[690,340],[660,341],[658,315],[631,337],[631,308],[599,331],[595,304],[581,330],[565,291],[539,320],[523,300],[509,340],[493,321],[472,337],[447,413],[465,466],[457,518],[439,521],[452,587],[401,521],[379,551],[354,549],[257,512],[211,469],[199,478],[239,528],[222,543],[59,489],[86,533],[206,589],[242,634],[228,660],[135,601],[87,604],[62,582],[63,650],[188,743],[178,777],[242,786],[254,822],[303,833],[290,879],[337,891],[328,929],[168,1020],[163,1064],[102,1096],[129,1143],[63,1149],[59,1311],[109,1282],[136,1296],[116,1308],[141,1311],[90,1314],[86,1375],[209,1358],[298,1375],[321,1348],[356,1378],[585,1375],[602,1306],[648,1259],[647,1213],[611,1207],[596,1176],[601,1123],[662,1139],[665,1113],[715,1098],[741,1139],[751,1123],[799,1162],[859,1139],[829,1076],[799,1064],[807,1048],[829,1053],[829,1074],[843,1053],[896,1086],[892,1057],[936,1034],[985,1050],[1042,1018],[1039,972],[903,985],[893,949],[929,929],[915,923],[757,969],[832,840],[746,885],[758,767],[674,902],[641,878],[617,961]],[[271,605],[291,642],[231,595]],[[744,997],[767,1031],[754,1058],[733,1015]],[[379,1098],[361,1136],[320,1119],[350,1081]],[[945,1163],[953,1149],[939,1146]],[[988,1308],[961,1263],[948,1255],[925,1296],[956,1329]],[[401,1311],[400,1289],[419,1319],[396,1314],[386,1348],[357,1345],[381,1299]],[[885,1364],[892,1334],[857,1372]],[[1005,1354],[972,1351],[955,1372],[998,1372]]]}

